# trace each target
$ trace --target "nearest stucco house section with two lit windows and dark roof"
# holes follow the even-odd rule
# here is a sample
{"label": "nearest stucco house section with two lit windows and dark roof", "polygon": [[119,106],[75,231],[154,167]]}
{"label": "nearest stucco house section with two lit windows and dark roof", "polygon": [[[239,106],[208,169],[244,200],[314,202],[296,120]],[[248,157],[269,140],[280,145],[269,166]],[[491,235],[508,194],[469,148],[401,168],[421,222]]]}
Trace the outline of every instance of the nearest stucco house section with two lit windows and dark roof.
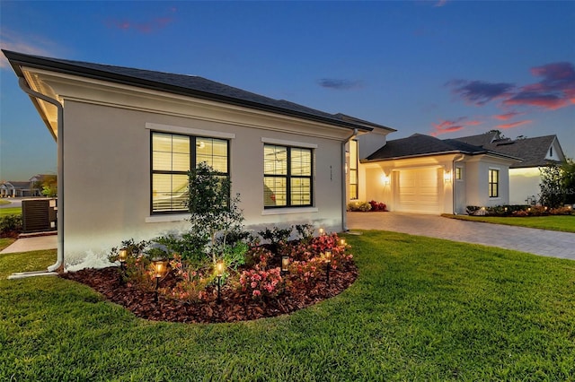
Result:
{"label": "nearest stucco house section with two lit windows and dark roof", "polygon": [[229,176],[246,228],[345,229],[346,143],[394,129],[198,76],[4,51],[57,141],[58,257],[106,265],[124,239],[184,230],[187,171]]}

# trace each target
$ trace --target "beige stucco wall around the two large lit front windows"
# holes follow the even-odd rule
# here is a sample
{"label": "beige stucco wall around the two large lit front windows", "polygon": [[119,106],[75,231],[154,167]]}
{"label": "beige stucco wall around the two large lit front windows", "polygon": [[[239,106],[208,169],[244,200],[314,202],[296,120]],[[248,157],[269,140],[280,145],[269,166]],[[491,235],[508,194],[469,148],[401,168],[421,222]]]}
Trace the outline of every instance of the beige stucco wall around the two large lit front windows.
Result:
{"label": "beige stucco wall around the two large lit front windows", "polygon": [[[257,120],[252,124],[246,120],[243,126],[234,126],[67,100],[62,142],[68,269],[70,265],[105,265],[110,248],[122,239],[152,239],[189,224],[182,221],[183,215],[150,215],[150,130],[154,126],[165,131],[173,128],[178,134],[202,130],[206,135],[234,136],[229,141],[230,173],[233,193],[241,195],[246,228],[314,223],[326,230],[341,230],[340,138],[278,132],[259,128]],[[262,138],[315,147],[314,208],[264,211]]]}

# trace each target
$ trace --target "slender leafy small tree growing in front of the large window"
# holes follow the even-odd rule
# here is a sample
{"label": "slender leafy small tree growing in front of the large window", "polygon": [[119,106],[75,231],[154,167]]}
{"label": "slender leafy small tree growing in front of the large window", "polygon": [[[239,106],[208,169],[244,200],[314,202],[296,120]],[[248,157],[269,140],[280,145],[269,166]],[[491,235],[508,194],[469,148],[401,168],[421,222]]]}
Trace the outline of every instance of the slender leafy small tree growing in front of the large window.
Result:
{"label": "slender leafy small tree growing in front of the large window", "polygon": [[216,263],[218,254],[226,251],[228,235],[243,230],[239,194],[232,198],[230,179],[205,162],[192,169],[189,177],[190,235],[197,236],[197,242],[208,243],[206,253]]}

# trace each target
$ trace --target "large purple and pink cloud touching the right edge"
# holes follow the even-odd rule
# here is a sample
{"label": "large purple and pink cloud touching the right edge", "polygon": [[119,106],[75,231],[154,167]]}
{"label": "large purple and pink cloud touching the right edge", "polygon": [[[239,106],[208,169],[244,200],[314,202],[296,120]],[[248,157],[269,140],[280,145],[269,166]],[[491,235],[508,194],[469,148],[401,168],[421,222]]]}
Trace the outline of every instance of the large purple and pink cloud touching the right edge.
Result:
{"label": "large purple and pink cloud touching the right edge", "polygon": [[504,100],[503,105],[556,110],[575,104],[575,67],[571,63],[535,66],[531,74],[542,80],[523,86],[513,97]]}

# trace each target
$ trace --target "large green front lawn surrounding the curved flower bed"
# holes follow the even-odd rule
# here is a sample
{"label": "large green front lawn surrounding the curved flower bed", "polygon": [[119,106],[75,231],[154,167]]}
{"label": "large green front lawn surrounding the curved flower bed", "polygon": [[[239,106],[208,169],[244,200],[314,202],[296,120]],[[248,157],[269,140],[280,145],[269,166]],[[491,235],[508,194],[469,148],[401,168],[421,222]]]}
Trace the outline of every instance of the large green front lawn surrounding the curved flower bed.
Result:
{"label": "large green front lawn surrounding the curved flower bed", "polygon": [[[149,322],[75,282],[0,280],[0,380],[575,380],[574,261],[346,239],[359,267],[347,291],[237,324]],[[0,274],[37,256],[0,257]]]}

